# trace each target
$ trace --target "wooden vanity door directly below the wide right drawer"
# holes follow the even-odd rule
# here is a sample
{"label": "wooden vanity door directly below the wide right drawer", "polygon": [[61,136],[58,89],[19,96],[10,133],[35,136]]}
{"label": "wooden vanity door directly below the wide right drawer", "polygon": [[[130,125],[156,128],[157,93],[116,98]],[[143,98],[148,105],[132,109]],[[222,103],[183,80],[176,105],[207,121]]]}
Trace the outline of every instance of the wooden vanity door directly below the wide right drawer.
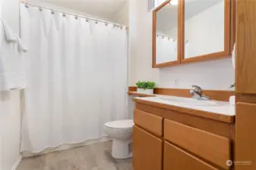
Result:
{"label": "wooden vanity door directly below the wide right drawer", "polygon": [[195,156],[165,142],[163,170],[219,170]]}

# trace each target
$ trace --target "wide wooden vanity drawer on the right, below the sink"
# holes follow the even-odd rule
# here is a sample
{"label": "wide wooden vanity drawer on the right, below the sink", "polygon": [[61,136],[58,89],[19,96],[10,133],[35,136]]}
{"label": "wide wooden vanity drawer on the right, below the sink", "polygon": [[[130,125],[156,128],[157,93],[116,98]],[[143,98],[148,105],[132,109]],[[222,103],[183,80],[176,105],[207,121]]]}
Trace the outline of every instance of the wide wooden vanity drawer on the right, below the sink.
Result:
{"label": "wide wooden vanity drawer on the right, below the sink", "polygon": [[231,159],[229,138],[167,119],[164,121],[164,138],[215,165],[230,168],[226,165],[226,161]]}

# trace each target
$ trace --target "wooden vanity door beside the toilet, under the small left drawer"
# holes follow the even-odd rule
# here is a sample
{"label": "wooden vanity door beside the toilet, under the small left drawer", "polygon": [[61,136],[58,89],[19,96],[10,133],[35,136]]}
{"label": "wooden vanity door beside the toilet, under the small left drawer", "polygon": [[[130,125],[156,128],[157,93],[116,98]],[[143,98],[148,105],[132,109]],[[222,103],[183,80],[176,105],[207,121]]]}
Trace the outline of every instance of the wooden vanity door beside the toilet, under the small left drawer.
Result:
{"label": "wooden vanity door beside the toilet, under the small left drawer", "polygon": [[161,170],[163,141],[138,128],[133,129],[132,163],[134,170]]}

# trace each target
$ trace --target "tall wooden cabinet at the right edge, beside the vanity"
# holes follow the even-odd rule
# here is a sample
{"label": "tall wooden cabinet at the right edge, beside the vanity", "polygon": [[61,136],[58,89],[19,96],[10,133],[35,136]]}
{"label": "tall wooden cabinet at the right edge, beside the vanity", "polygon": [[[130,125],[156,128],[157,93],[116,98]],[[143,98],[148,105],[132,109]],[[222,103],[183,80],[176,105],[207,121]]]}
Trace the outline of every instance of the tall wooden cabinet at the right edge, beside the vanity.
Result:
{"label": "tall wooden cabinet at the right edge, beside the vanity", "polygon": [[235,170],[256,169],[256,3],[237,0]]}

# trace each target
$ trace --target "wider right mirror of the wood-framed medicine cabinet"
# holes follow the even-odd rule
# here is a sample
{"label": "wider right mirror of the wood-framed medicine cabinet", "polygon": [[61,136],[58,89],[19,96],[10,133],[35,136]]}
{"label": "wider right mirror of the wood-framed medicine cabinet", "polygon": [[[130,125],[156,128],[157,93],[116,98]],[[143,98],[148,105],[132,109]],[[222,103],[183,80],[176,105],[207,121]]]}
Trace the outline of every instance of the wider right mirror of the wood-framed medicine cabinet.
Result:
{"label": "wider right mirror of the wood-framed medicine cabinet", "polygon": [[225,0],[185,0],[183,60],[225,55]]}

